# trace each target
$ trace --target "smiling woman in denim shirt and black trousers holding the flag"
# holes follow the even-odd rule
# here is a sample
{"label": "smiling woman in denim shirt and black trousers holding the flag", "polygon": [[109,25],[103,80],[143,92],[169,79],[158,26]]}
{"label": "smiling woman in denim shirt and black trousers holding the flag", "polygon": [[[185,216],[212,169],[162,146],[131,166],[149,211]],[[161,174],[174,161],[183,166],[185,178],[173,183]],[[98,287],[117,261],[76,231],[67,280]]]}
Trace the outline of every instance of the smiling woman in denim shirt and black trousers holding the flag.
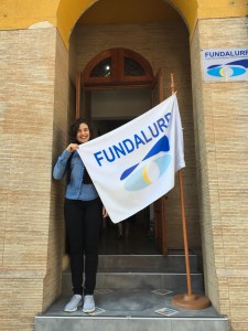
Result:
{"label": "smiling woman in denim shirt and black trousers holding the flag", "polygon": [[[95,310],[94,289],[98,265],[98,239],[103,216],[107,212],[77,152],[80,143],[93,138],[88,124],[82,119],[71,126],[71,143],[57,159],[53,170],[55,180],[67,173],[64,215],[69,247],[74,296],[64,311]],[[85,281],[83,289],[83,274]]]}

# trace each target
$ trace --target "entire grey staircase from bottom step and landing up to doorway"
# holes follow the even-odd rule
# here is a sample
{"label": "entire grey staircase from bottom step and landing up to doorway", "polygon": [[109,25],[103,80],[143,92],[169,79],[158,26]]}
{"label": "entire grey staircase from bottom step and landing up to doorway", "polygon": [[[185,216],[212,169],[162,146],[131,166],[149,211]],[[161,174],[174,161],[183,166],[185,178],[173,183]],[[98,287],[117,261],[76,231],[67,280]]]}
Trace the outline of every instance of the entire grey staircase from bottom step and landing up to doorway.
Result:
{"label": "entire grey staircase from bottom step and landing up to doorway", "polygon": [[[192,292],[203,295],[203,275],[197,257],[190,255]],[[72,297],[69,270],[63,273],[62,296],[50,309],[35,318],[35,331],[228,331],[228,319],[211,306],[200,310],[172,306],[177,293],[187,293],[183,254],[100,255],[96,312],[66,313]],[[164,311],[163,314],[159,313]],[[166,314],[168,313],[168,314]]]}

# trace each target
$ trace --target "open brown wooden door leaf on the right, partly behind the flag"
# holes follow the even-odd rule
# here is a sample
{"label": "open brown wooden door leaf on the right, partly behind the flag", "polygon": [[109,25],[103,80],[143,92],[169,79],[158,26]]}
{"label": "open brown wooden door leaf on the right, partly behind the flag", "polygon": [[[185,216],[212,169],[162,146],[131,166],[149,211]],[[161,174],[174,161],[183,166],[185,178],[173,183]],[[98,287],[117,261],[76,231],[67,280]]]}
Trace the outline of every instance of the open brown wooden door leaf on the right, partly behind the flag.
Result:
{"label": "open brown wooden door leaf on the right, partly behind the flag", "polygon": [[[163,102],[163,72],[160,68],[152,84],[152,107]],[[165,196],[154,202],[155,247],[162,255],[168,255]]]}

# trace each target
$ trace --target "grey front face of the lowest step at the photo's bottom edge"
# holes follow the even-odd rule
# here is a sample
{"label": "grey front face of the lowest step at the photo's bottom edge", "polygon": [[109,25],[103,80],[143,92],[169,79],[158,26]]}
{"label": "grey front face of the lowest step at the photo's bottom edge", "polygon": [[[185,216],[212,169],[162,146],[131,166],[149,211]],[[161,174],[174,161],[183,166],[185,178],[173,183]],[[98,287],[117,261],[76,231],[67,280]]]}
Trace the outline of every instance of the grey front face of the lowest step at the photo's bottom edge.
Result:
{"label": "grey front face of the lowest step at the photo's bottom edge", "polygon": [[226,318],[36,317],[35,331],[228,331]]}

